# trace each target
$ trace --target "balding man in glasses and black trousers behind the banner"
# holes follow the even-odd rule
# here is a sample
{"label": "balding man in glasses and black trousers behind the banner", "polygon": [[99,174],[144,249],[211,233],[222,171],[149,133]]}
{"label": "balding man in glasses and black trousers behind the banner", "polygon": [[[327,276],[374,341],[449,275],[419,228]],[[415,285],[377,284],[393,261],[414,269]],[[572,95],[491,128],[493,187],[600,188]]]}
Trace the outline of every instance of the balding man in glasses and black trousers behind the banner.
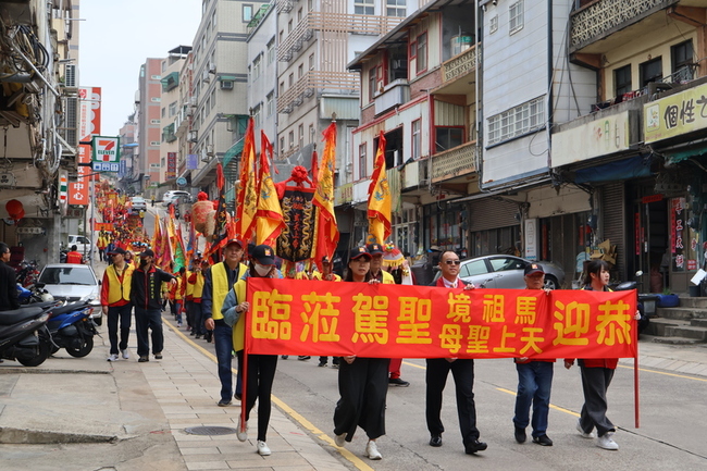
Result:
{"label": "balding man in glasses and black trousers behind the banner", "polygon": [[[459,256],[452,251],[445,251],[439,257],[442,276],[431,286],[451,289],[474,289],[471,283],[466,283],[459,277]],[[444,313],[442,313],[444,314]],[[457,412],[459,414],[459,429],[467,455],[486,449],[484,442],[479,442],[476,429],[476,406],[474,404],[474,360],[462,358],[429,358],[425,375],[427,430],[430,431],[430,445],[442,446],[444,425],[439,413],[442,411],[442,394],[451,371],[457,392]]]}

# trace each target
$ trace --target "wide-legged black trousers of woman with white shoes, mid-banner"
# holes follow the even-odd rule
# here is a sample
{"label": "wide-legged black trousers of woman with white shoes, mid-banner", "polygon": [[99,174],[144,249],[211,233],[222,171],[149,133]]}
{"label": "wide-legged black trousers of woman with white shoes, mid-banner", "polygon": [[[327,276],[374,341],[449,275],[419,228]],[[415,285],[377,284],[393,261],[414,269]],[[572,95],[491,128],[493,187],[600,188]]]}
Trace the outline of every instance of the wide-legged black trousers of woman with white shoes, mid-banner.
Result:
{"label": "wide-legged black trousers of woman with white shoes, mid-banner", "polygon": [[338,367],[340,399],[334,410],[334,434],[354,439],[357,425],[370,439],[385,435],[385,398],[388,394],[387,358],[342,359]]}

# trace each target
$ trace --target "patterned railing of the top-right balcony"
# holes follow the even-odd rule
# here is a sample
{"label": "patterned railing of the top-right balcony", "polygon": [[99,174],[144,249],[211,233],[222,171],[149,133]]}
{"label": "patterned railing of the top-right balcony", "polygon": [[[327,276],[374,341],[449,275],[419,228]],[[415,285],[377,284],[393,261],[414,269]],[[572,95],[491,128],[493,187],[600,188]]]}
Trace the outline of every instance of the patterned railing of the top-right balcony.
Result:
{"label": "patterned railing of the top-right balcony", "polygon": [[572,13],[570,52],[637,23],[679,0],[598,0]]}

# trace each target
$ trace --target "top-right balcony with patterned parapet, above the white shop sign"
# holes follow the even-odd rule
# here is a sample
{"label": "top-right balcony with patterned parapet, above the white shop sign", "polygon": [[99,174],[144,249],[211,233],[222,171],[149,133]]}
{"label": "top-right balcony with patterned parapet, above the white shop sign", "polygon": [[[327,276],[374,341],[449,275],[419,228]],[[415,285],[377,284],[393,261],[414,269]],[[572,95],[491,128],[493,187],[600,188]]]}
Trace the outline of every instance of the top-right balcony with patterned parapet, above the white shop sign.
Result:
{"label": "top-right balcony with patterned parapet, above the white shop sign", "polygon": [[[597,0],[572,12],[570,16],[570,53],[601,53],[631,38],[649,35],[653,21],[643,20],[680,0]],[[665,15],[656,15],[665,23]],[[597,45],[612,37],[610,44]],[[603,41],[605,42],[605,41]]]}

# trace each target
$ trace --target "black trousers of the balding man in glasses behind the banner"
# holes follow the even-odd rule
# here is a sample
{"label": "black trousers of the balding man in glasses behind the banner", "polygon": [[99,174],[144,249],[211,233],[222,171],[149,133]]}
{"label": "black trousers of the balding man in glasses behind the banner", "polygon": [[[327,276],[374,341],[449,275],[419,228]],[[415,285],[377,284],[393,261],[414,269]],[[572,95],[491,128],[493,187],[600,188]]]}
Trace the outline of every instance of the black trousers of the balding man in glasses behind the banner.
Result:
{"label": "black trousers of the balding man in glasses behind the banner", "polygon": [[457,392],[457,414],[459,429],[464,446],[479,439],[476,429],[476,405],[474,404],[474,360],[458,359],[452,362],[445,358],[427,359],[425,382],[427,385],[427,399],[425,417],[427,430],[431,435],[442,435],[445,431],[439,417],[442,412],[442,393],[447,384],[447,376],[451,370]]}

